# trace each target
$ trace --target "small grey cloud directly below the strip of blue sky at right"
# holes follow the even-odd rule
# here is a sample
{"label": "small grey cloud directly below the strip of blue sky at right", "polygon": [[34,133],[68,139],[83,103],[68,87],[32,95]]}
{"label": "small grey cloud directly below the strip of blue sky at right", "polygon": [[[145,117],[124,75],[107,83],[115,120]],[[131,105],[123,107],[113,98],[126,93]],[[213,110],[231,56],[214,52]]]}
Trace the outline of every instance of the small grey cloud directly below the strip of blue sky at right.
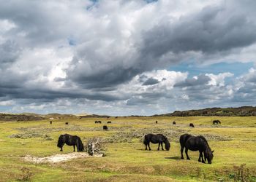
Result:
{"label": "small grey cloud directly below the strip of blue sky at right", "polygon": [[205,85],[211,80],[209,76],[199,75],[197,78],[187,78],[184,82],[179,82],[174,85],[174,87],[194,87],[197,85]]}

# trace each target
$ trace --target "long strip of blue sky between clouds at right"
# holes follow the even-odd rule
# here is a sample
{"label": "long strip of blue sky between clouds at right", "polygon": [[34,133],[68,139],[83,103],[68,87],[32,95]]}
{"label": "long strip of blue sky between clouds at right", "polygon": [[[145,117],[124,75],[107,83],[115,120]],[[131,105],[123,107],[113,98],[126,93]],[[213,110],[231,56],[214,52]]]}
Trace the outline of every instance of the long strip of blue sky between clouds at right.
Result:
{"label": "long strip of blue sky between clouds at right", "polygon": [[253,68],[254,63],[216,63],[207,66],[197,66],[193,63],[180,63],[176,66],[171,66],[169,71],[188,72],[189,76],[197,76],[199,74],[221,74],[230,72],[234,76],[246,74],[249,68]]}

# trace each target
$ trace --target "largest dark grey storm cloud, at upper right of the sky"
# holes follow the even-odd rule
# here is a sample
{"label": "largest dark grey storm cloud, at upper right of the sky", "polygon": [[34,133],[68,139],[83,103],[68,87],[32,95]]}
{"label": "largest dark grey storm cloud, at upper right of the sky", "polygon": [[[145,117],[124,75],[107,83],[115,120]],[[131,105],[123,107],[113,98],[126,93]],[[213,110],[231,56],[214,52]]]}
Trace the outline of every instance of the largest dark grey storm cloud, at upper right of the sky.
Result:
{"label": "largest dark grey storm cloud, at upper right of the sky", "polygon": [[[253,17],[230,12],[229,7],[206,7],[175,23],[162,23],[143,33],[143,55],[159,58],[167,52],[202,52],[205,55],[229,52],[256,41]],[[231,52],[230,52],[231,53]],[[171,60],[170,60],[171,61]]]}

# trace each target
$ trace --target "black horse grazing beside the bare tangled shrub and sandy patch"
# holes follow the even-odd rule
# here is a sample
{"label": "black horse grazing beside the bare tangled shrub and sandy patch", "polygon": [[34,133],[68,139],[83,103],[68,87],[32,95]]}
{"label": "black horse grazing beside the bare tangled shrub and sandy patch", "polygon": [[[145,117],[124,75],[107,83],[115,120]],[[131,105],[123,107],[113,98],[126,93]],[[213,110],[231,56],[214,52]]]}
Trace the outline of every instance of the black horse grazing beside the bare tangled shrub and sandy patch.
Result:
{"label": "black horse grazing beside the bare tangled shrub and sandy patch", "polygon": [[75,151],[75,146],[77,147],[77,151],[84,151],[83,143],[77,135],[69,135],[69,134],[60,135],[57,146],[61,148],[61,151],[63,151],[62,147],[64,146],[65,143],[68,146],[73,146],[74,151]]}

